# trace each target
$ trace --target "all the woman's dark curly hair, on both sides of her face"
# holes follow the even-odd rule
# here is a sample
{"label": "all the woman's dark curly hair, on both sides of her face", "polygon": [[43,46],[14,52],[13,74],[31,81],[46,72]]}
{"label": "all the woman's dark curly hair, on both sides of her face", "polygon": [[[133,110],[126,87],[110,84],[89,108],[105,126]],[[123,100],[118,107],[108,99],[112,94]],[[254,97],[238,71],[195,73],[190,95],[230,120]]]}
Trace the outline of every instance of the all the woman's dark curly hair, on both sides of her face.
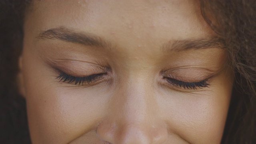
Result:
{"label": "all the woman's dark curly hair, on both sides of her face", "polygon": [[[30,0],[0,1],[0,142],[31,143],[16,76]],[[256,144],[256,1],[201,0],[204,20],[222,38],[235,74],[222,144]]]}

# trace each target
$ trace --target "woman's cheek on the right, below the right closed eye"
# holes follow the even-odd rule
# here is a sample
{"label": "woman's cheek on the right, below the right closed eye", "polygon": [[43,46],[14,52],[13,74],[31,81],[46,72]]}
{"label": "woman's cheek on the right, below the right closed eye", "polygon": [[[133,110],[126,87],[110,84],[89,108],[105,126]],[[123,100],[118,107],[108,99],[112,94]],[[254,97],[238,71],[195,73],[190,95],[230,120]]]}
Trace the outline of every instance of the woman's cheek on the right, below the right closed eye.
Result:
{"label": "woman's cheek on the right, below the right closed eye", "polygon": [[194,94],[177,93],[169,100],[163,100],[169,132],[191,143],[220,143],[228,113],[232,81],[232,77],[220,74],[211,90]]}

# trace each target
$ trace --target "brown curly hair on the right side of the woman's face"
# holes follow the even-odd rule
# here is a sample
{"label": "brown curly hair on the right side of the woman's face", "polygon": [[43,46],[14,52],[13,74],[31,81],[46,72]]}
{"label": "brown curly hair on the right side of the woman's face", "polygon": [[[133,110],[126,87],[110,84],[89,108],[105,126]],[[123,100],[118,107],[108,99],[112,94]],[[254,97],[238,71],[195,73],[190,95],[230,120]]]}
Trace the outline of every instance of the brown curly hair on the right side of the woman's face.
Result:
{"label": "brown curly hair on the right side of the woman's face", "polygon": [[256,1],[204,0],[202,16],[225,40],[236,83],[223,143],[256,143]]}

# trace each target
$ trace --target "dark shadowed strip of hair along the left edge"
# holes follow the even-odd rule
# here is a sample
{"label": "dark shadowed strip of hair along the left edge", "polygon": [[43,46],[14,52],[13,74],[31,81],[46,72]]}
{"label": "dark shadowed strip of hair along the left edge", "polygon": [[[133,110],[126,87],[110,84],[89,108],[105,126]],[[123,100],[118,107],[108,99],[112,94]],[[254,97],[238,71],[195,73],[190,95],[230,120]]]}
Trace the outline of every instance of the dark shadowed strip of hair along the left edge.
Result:
{"label": "dark shadowed strip of hair along the left edge", "polygon": [[29,144],[26,103],[16,87],[24,0],[0,1],[0,142]]}

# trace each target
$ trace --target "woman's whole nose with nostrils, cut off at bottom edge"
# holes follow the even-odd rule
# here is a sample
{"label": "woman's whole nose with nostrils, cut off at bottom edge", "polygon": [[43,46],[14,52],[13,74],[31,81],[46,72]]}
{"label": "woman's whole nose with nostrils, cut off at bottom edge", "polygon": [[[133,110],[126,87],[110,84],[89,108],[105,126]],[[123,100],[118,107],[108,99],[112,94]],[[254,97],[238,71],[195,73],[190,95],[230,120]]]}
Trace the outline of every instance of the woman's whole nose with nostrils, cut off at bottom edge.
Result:
{"label": "woman's whole nose with nostrils, cut off at bottom edge", "polygon": [[153,90],[133,84],[116,90],[106,118],[97,128],[101,140],[111,144],[162,144],[168,136]]}

